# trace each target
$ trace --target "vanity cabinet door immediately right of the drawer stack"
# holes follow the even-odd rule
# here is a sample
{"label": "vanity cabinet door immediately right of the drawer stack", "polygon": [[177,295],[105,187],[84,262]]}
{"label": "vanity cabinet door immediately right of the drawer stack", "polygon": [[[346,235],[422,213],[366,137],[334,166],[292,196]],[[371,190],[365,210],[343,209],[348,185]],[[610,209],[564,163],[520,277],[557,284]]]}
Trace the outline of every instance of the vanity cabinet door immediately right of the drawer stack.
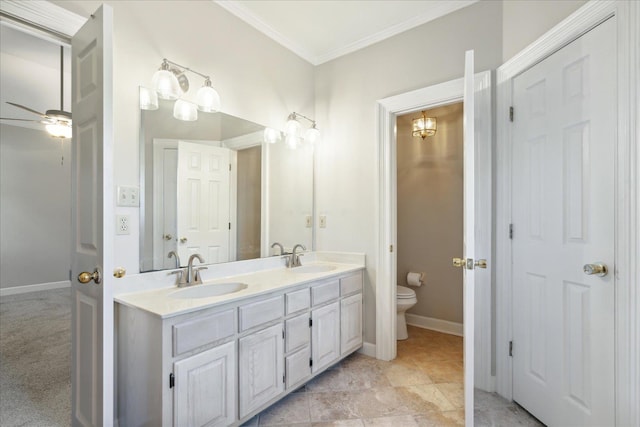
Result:
{"label": "vanity cabinet door immediately right of the drawer stack", "polygon": [[340,356],[340,304],[338,301],[311,312],[311,355],[314,373]]}

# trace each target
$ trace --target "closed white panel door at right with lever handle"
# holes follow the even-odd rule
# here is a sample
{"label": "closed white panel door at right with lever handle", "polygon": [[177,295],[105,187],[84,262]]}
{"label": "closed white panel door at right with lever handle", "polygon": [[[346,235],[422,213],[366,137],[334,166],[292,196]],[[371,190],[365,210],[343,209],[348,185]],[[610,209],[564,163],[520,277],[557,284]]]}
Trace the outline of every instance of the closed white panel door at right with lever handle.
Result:
{"label": "closed white panel door at right with lever handle", "polygon": [[513,397],[549,426],[615,425],[615,63],[612,18],[513,81]]}

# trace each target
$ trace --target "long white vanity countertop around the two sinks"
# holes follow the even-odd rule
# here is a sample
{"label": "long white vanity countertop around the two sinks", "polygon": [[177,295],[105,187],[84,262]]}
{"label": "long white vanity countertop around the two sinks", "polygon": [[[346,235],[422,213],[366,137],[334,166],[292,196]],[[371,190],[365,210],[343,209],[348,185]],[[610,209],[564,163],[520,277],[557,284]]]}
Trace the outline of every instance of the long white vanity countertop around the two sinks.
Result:
{"label": "long white vanity countertop around the two sinks", "polygon": [[[147,290],[143,292],[123,293],[114,297],[115,301],[129,307],[145,310],[161,318],[173,317],[190,313],[204,308],[237,301],[244,298],[266,294],[279,289],[301,285],[307,282],[339,276],[344,273],[358,271],[364,268],[361,264],[347,264],[337,262],[314,262],[305,265],[328,265],[334,267],[331,271],[320,273],[298,273],[296,269],[279,267],[271,270],[261,270],[252,273],[239,274],[228,277],[219,277],[214,280],[206,280],[205,285],[239,282],[247,284],[247,288],[226,295],[205,298],[172,298],[171,293],[178,291],[176,286]],[[203,286],[203,285],[192,285]]]}

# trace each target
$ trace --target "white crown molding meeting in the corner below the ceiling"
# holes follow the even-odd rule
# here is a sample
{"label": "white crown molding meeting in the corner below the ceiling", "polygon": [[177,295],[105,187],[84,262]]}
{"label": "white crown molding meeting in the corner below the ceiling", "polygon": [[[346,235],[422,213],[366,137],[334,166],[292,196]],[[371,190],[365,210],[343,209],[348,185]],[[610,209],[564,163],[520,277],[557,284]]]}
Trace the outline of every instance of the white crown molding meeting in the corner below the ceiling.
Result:
{"label": "white crown molding meeting in the corner below the ceiling", "polygon": [[254,14],[250,9],[243,6],[242,4],[233,0],[214,0],[216,4],[225,9],[227,12],[240,18],[256,30],[260,31],[275,42],[289,49],[312,65],[320,65],[349,53],[355,52],[357,50],[363,49],[374,43],[378,43],[389,37],[393,37],[396,34],[400,34],[419,25],[425,24],[429,21],[433,21],[434,19],[455,12],[458,9],[462,9],[478,1],[479,0],[432,1],[433,8],[426,13],[414,16],[404,22],[386,28],[382,31],[378,31],[377,33],[374,33],[367,37],[363,37],[359,40],[356,40],[355,42],[348,43],[337,49],[316,55],[296,41],[286,37],[279,31],[274,29],[271,25],[267,24],[258,15]]}

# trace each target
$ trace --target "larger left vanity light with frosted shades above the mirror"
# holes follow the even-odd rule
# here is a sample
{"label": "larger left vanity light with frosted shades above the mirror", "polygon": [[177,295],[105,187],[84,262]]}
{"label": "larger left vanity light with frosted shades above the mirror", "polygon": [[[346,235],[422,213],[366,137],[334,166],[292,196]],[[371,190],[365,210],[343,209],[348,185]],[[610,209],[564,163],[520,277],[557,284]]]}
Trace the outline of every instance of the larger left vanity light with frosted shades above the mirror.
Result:
{"label": "larger left vanity light with frosted shades above the mirror", "polygon": [[[196,103],[182,99],[182,95],[189,91],[189,79],[185,72],[204,78],[202,87],[196,93]],[[173,101],[173,117],[178,120],[195,121],[198,110],[205,113],[220,111],[220,95],[211,85],[211,78],[184,65],[177,64],[164,58],[160,69],[151,79],[153,90],[141,90],[140,108],[145,110],[158,109],[158,98]]]}

